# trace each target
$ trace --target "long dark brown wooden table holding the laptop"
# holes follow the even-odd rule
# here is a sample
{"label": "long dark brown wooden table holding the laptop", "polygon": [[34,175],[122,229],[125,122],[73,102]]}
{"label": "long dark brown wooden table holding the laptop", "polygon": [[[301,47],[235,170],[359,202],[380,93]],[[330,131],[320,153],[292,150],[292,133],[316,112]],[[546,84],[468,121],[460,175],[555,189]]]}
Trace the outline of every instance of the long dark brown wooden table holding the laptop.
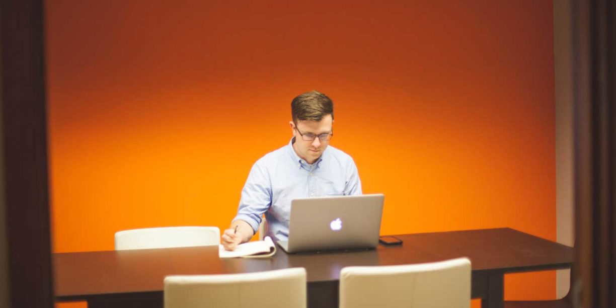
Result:
{"label": "long dark brown wooden table holding the laptop", "polygon": [[503,275],[570,267],[573,249],[517,230],[485,229],[395,235],[401,246],[375,250],[219,259],[217,246],[54,254],[55,298],[97,307],[162,307],[166,275],[234,274],[304,267],[309,307],[337,307],[338,279],[350,265],[395,265],[468,257],[471,297],[503,307]]}

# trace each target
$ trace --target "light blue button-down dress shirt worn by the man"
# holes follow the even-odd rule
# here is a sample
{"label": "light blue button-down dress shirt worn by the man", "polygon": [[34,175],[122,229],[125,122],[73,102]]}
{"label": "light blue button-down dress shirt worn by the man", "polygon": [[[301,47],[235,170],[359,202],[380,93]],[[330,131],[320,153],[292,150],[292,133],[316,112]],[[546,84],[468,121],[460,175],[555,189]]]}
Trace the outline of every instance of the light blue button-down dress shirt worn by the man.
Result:
{"label": "light blue button-down dress shirt worn by the man", "polygon": [[233,219],[248,222],[257,232],[265,213],[267,233],[274,240],[288,238],[291,200],[362,194],[362,183],[351,156],[330,145],[310,165],[295,153],[293,142],[294,138],[254,163]]}

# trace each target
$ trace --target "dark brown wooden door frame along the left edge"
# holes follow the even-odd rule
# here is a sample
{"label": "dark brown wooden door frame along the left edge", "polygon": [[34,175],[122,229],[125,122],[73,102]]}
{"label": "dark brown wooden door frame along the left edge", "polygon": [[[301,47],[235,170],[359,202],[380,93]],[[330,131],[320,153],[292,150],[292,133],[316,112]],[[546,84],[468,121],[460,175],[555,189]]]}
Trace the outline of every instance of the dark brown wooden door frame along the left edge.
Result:
{"label": "dark brown wooden door frame along the left edge", "polygon": [[3,0],[0,6],[10,302],[52,307],[43,2]]}

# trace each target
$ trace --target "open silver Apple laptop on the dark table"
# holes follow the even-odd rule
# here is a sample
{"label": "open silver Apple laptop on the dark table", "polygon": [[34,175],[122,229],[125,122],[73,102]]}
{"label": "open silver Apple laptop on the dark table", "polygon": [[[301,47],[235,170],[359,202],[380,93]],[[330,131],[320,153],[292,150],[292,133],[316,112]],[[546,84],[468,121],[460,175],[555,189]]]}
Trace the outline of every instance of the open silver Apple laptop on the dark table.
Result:
{"label": "open silver Apple laptop on the dark table", "polygon": [[288,253],[371,249],[379,243],[383,194],[291,200]]}

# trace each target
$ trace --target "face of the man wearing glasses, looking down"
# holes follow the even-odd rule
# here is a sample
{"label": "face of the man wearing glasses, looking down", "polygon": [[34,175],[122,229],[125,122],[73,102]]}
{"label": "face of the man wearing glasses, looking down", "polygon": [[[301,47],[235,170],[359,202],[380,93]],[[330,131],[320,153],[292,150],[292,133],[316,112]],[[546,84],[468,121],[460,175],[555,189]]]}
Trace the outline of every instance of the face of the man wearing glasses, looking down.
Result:
{"label": "face of the man wearing glasses, looking down", "polygon": [[[293,135],[295,136],[295,143],[293,144],[293,149],[295,153],[298,154],[300,158],[306,160],[307,163],[313,164],[317,159],[323,154],[327,145],[330,142],[321,141],[318,136],[331,134],[331,124],[333,124],[333,120],[331,120],[331,115],[326,115],[323,117],[321,121],[298,121],[298,124],[294,124],[293,121],[290,122],[291,130],[293,131]],[[317,136],[312,141],[306,141],[304,138],[306,136]]]}

